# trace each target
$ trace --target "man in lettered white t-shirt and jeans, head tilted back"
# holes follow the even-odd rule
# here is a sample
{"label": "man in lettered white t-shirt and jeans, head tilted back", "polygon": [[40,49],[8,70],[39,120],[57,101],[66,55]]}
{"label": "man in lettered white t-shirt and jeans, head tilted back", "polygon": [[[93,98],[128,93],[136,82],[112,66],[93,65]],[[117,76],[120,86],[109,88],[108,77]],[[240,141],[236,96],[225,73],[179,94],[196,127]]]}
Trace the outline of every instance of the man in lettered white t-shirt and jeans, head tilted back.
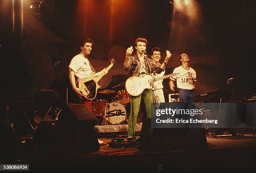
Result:
{"label": "man in lettered white t-shirt and jeans, head tilted back", "polygon": [[170,89],[174,92],[174,81],[177,81],[180,102],[194,103],[194,89],[197,74],[189,66],[189,56],[186,53],[182,53],[179,56],[179,61],[182,65],[174,69],[173,73],[177,73],[178,75],[170,77]]}

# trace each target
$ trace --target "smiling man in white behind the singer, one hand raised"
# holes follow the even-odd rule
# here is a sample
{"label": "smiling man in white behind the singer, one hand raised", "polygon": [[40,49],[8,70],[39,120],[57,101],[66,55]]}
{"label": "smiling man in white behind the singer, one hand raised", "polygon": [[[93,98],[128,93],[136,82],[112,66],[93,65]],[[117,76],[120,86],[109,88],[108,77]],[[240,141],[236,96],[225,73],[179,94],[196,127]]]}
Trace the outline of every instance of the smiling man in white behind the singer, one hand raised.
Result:
{"label": "smiling man in white behind the singer, one hand raised", "polygon": [[[162,55],[161,49],[159,47],[154,47],[154,48],[152,48],[151,53],[152,53],[151,58],[153,59],[153,62],[157,66],[161,66],[161,64],[159,63],[159,61],[161,59],[161,55]],[[171,56],[172,56],[172,54],[169,51],[166,51],[166,59],[164,60],[164,64],[168,63],[168,60]],[[165,70],[162,71],[160,74],[156,74],[155,78],[164,76],[164,73],[165,73]],[[156,103],[165,102],[163,88],[164,88],[163,80],[154,82],[154,84],[152,86],[152,91],[154,93],[154,101]]]}

